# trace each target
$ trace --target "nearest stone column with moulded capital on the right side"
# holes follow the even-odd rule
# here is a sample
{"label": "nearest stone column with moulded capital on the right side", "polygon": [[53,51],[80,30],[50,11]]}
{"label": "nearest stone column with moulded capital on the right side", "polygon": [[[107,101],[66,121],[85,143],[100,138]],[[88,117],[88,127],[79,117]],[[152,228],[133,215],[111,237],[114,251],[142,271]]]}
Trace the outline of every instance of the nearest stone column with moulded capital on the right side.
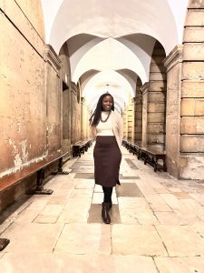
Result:
{"label": "nearest stone column with moulded capital on the right side", "polygon": [[180,177],[180,92],[182,45],[177,45],[164,60],[167,68],[166,153],[170,175]]}

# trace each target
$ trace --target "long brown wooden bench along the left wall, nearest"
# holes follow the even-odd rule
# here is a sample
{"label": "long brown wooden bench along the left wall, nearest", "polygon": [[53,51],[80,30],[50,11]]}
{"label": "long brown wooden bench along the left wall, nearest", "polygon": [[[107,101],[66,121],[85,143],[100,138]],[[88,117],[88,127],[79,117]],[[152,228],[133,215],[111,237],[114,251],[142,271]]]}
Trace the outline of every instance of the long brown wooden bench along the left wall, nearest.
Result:
{"label": "long brown wooden bench along the left wall, nearest", "polygon": [[[32,163],[28,167],[23,167],[15,173],[0,178],[0,193],[4,192],[9,187],[13,187],[24,178],[31,177],[36,173],[36,187],[28,193],[51,195],[53,193],[52,189],[44,189],[44,168],[58,161],[58,167],[54,174],[68,175],[68,172],[63,171],[63,157],[67,157],[68,155],[69,152],[56,152],[53,155],[44,158],[42,161]],[[9,242],[10,240],[7,238],[0,238],[0,251],[3,250]]]}

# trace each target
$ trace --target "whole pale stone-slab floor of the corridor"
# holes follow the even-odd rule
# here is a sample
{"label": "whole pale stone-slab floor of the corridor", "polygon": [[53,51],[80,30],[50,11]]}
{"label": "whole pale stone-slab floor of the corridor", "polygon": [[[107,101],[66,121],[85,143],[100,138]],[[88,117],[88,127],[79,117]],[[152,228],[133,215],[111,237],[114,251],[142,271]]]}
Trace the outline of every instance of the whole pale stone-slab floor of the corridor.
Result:
{"label": "whole pale stone-slab floor of the corridor", "polygon": [[[123,148],[112,224],[101,218],[92,148],[1,216],[1,273],[204,272],[204,184],[153,172]],[[3,221],[3,219],[5,219]]]}

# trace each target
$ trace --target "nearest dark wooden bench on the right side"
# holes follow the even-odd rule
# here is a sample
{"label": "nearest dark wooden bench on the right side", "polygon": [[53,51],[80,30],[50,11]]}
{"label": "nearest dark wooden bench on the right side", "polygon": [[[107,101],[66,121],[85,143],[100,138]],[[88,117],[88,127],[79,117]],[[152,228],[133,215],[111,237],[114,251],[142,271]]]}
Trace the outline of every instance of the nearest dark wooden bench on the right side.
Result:
{"label": "nearest dark wooden bench on the right side", "polygon": [[[152,167],[154,167],[154,171],[156,172],[158,169],[162,169],[163,171],[167,171],[166,167],[166,152],[159,147],[139,147],[138,159],[144,159],[144,164],[149,163]],[[163,164],[159,163],[159,160],[162,160]]]}

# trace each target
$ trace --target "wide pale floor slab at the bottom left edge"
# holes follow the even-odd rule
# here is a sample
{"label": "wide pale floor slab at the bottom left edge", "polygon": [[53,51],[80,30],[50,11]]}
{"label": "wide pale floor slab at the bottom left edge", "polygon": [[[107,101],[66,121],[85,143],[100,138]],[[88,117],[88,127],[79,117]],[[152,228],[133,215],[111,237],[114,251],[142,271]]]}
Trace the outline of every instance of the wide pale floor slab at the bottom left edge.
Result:
{"label": "wide pale floor slab at the bottom left edge", "polygon": [[0,260],[4,273],[27,273],[28,268],[30,273],[158,273],[151,257],[133,255],[6,253]]}

